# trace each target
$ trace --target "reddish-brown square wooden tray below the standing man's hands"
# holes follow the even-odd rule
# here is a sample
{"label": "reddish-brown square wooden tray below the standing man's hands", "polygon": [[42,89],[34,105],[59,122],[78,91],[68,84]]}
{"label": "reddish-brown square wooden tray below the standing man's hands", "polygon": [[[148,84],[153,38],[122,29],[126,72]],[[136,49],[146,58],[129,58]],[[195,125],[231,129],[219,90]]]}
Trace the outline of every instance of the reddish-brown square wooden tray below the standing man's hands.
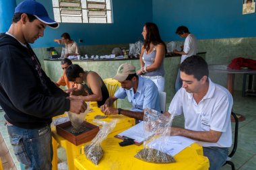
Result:
{"label": "reddish-brown square wooden tray below the standing man's hands", "polygon": [[85,142],[92,140],[100,130],[98,126],[95,126],[94,124],[90,124],[86,121],[84,121],[83,124],[84,126],[86,126],[87,130],[79,134],[72,134],[71,132],[69,132],[68,129],[72,127],[70,121],[57,125],[56,131],[57,131],[57,134],[59,134],[59,136],[62,136],[63,138],[65,138],[66,140],[68,140],[69,142],[77,146],[79,144],[83,144]]}

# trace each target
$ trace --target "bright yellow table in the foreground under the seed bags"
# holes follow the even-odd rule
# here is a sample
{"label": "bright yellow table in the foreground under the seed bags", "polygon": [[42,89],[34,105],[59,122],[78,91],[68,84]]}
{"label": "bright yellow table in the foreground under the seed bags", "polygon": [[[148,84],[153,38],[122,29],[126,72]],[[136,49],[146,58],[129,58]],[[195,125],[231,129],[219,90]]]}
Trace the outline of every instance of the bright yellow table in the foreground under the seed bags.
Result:
{"label": "bright yellow table in the foreground under the seed bags", "polygon": [[[122,132],[122,130],[120,131]],[[119,133],[119,132],[117,132]],[[203,148],[201,145],[193,143],[191,146],[185,148],[181,153],[174,156],[177,163],[168,164],[156,164],[146,163],[134,156],[143,148],[141,146],[119,146],[118,138],[114,137],[112,133],[108,135],[108,138],[102,142],[102,148],[104,155],[98,165],[94,165],[91,161],[86,159],[84,153],[75,159],[75,167],[79,170],[92,170],[92,169],[104,169],[104,170],[127,170],[127,169],[139,169],[139,170],[156,170],[156,169],[209,169],[210,164],[207,157],[203,157]]]}

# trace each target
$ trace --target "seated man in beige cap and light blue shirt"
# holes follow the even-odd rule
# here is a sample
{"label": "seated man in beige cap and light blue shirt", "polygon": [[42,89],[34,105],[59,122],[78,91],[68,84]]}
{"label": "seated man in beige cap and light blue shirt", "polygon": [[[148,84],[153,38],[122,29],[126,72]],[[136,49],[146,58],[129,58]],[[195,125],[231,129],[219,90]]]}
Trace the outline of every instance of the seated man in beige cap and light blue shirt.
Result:
{"label": "seated man in beige cap and light blue shirt", "polygon": [[[133,65],[128,63],[121,65],[113,79],[119,81],[121,87],[101,106],[100,109],[105,115],[123,114],[143,120],[143,109],[145,108],[152,108],[160,112],[158,87],[152,80],[137,75]],[[133,109],[110,108],[115,100],[124,99],[126,96],[133,105]]]}

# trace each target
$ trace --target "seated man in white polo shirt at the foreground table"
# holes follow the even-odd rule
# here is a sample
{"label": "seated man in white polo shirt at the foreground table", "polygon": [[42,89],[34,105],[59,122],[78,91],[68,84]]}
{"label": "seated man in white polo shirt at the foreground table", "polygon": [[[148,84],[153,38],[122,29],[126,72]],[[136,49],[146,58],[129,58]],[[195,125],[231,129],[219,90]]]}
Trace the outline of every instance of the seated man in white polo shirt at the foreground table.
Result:
{"label": "seated man in white polo shirt at the foreground table", "polygon": [[233,99],[226,88],[213,83],[208,75],[207,63],[201,56],[185,59],[181,64],[183,88],[174,95],[168,113],[185,117],[185,128],[172,127],[170,135],[197,140],[213,170],[222,167],[232,145]]}

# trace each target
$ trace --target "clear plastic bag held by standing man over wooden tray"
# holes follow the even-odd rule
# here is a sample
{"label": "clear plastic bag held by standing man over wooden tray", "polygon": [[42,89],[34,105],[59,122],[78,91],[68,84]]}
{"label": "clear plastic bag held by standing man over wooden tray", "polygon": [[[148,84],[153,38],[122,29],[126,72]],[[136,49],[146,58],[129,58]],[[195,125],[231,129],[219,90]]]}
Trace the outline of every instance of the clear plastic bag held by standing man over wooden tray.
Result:
{"label": "clear plastic bag held by standing man over wooden tray", "polygon": [[84,132],[85,127],[83,127],[83,123],[84,123],[84,119],[86,118],[86,115],[88,114],[88,112],[90,112],[89,104],[87,104],[87,109],[84,113],[75,114],[72,112],[68,112],[69,120],[73,126],[72,133]]}

